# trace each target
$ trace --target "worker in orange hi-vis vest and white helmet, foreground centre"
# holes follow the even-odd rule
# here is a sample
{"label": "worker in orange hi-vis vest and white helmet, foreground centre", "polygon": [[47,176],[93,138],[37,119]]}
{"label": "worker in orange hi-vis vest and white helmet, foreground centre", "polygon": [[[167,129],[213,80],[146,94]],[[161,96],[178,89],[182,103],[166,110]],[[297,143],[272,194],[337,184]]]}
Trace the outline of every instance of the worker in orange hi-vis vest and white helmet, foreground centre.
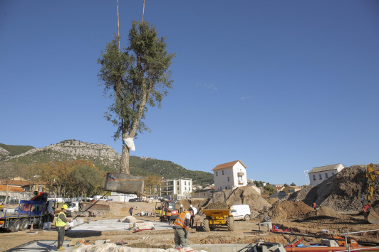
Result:
{"label": "worker in orange hi-vis vest and white helmet, foreground centre", "polygon": [[188,212],[182,212],[175,219],[173,229],[175,229],[175,248],[181,250],[187,247],[187,237],[190,236],[190,219],[194,216],[194,210],[188,209]]}

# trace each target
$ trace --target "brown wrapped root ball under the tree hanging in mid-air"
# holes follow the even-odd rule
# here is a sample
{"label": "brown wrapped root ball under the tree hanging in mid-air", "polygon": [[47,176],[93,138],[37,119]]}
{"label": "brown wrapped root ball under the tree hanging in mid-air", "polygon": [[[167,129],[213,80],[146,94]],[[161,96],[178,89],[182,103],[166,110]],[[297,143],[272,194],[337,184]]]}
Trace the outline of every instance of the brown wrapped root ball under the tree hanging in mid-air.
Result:
{"label": "brown wrapped root ball under the tree hanging in mid-air", "polygon": [[145,177],[124,173],[108,172],[105,180],[105,191],[124,194],[142,195]]}

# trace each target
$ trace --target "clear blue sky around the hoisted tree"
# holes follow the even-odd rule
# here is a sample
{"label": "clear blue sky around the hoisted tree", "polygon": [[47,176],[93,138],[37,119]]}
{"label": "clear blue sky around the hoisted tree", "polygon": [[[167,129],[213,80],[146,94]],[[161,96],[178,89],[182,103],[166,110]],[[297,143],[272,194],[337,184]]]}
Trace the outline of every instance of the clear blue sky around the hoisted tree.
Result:
{"label": "clear blue sky around the hoisted tree", "polygon": [[[119,1],[123,47],[142,4]],[[313,167],[379,163],[378,14],[375,0],[146,0],[177,57],[131,155],[208,172],[242,160],[248,178],[296,185]],[[113,33],[116,0],[1,0],[0,143],[120,152],[96,62]]]}

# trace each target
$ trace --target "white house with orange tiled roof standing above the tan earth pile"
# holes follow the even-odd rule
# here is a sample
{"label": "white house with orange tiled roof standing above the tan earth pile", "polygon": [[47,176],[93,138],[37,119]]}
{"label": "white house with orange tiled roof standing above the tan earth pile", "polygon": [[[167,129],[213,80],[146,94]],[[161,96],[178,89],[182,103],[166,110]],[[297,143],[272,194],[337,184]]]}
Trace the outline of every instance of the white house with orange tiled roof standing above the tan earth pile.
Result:
{"label": "white house with orange tiled roof standing above the tan earth pile", "polygon": [[246,165],[241,160],[217,165],[212,171],[216,191],[247,185]]}

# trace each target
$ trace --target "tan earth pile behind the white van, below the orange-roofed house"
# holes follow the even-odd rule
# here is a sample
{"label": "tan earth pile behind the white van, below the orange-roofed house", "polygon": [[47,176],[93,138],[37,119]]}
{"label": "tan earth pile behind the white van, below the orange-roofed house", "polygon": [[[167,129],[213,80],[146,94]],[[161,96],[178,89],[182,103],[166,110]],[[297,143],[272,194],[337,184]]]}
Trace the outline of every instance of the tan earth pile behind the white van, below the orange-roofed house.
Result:
{"label": "tan earth pile behind the white van, below the orange-roofed house", "polygon": [[[234,190],[222,190],[222,192],[225,192],[225,197],[229,206],[234,204],[249,204],[252,212],[260,211],[264,207],[271,207],[271,204],[269,204],[266,199],[261,197],[261,195],[259,195],[253,187],[237,187]],[[222,192],[214,193],[214,202],[224,202],[224,193]],[[200,207],[207,207],[208,204],[212,202],[212,197],[204,199],[199,203],[197,209]]]}

